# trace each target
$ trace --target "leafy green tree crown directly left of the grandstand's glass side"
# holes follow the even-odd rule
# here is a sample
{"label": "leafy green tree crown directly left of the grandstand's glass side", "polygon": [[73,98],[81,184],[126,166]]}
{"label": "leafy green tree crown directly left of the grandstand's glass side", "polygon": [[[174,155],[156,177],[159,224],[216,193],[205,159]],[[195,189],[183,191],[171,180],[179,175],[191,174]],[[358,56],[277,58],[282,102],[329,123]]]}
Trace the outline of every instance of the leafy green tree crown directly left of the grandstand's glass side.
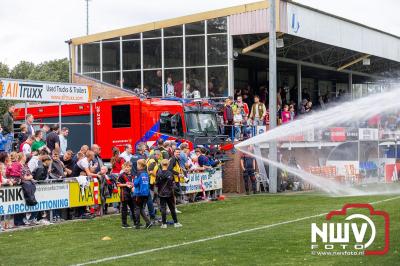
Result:
{"label": "leafy green tree crown directly left of the grandstand's glass side", "polygon": [[43,62],[35,67],[28,76],[31,80],[54,82],[69,81],[69,63],[67,58]]}

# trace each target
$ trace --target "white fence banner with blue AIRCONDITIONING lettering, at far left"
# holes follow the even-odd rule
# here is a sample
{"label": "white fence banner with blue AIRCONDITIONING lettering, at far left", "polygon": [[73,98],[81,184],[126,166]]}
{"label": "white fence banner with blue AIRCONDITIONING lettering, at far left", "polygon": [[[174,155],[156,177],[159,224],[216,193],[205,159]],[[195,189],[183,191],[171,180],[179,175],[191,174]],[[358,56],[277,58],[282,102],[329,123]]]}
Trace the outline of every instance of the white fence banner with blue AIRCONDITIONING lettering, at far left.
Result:
{"label": "white fence banner with blue AIRCONDITIONING lettering, at far left", "polygon": [[0,188],[0,215],[63,209],[69,207],[69,186],[66,183],[36,185],[35,206],[25,204],[22,187]]}

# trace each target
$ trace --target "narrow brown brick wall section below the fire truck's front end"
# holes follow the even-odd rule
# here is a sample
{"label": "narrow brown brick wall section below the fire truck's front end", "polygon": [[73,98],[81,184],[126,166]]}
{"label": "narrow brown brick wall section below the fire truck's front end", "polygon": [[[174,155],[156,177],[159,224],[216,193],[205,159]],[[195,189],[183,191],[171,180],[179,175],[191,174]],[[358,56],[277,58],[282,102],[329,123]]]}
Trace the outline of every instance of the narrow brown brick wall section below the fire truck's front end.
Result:
{"label": "narrow brown brick wall section below the fire truck's front end", "polygon": [[231,159],[226,161],[223,168],[222,187],[224,193],[244,193],[244,181],[240,169],[240,152],[226,155]]}

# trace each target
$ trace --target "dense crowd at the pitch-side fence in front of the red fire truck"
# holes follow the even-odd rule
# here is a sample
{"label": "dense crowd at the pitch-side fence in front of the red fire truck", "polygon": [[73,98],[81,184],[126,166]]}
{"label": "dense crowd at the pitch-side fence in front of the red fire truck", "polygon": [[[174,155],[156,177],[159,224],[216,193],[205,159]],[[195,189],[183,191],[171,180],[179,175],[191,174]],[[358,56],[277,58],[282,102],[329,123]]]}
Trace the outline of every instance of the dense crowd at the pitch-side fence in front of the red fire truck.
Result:
{"label": "dense crowd at the pitch-side fence in front of the red fire truck", "polygon": [[[139,143],[135,148],[128,144],[121,153],[117,147],[112,150],[110,169],[104,164],[101,157],[101,147],[93,144],[91,147],[83,145],[75,153],[68,149],[69,129],[59,128],[55,125],[42,125],[35,130],[34,117],[26,115],[26,121],[20,125],[20,131],[14,132],[14,106],[8,109],[3,116],[3,125],[0,126],[0,187],[17,186],[23,187],[29,184],[35,187],[39,182],[62,182],[82,179],[97,179],[101,184],[101,196],[104,199],[117,193],[117,186],[122,186],[122,192],[126,190],[126,177],[136,182],[142,179],[144,172],[149,177],[148,195],[140,195],[141,203],[136,202],[136,197],[128,193],[121,193],[121,204],[115,204],[117,212],[121,212],[123,227],[127,227],[127,208],[130,207],[134,221],[138,221],[135,211],[139,207],[139,214],[144,215],[144,205],[147,205],[149,220],[145,219],[146,226],[158,221],[154,203],[158,202],[162,212],[162,223],[165,227],[166,206],[174,207],[171,211],[176,226],[179,226],[175,208],[176,201],[185,202],[195,200],[196,195],[183,197],[181,183],[187,182],[187,174],[211,170],[220,162],[208,154],[205,148],[191,150],[188,143],[179,146],[174,141],[157,140],[156,145],[149,148],[146,143]],[[36,126],[37,128],[37,126]],[[15,136],[14,136],[15,135]],[[129,168],[129,171],[127,169]],[[161,174],[162,173],[162,174]],[[161,175],[161,176],[159,176]],[[171,180],[166,180],[169,176]],[[130,182],[128,182],[130,183]],[[125,185],[124,185],[125,184]],[[159,184],[163,184],[159,187]],[[168,186],[164,186],[168,184]],[[158,189],[157,189],[158,187]],[[129,188],[130,189],[130,188]],[[157,196],[157,190],[162,190],[166,199]],[[171,192],[168,192],[170,189]],[[124,197],[125,196],[125,197]],[[172,198],[173,200],[172,200]],[[132,202],[126,201],[132,198]],[[34,200],[33,200],[34,201]],[[107,213],[108,204],[93,206],[90,208],[76,208],[68,210],[64,218],[86,218],[93,214]],[[49,221],[48,212],[36,212],[30,214],[16,214],[13,217],[14,226],[48,224],[50,222],[62,221],[61,211],[53,211],[54,218]],[[2,218],[4,219],[4,217]],[[139,226],[139,222],[135,222]]]}

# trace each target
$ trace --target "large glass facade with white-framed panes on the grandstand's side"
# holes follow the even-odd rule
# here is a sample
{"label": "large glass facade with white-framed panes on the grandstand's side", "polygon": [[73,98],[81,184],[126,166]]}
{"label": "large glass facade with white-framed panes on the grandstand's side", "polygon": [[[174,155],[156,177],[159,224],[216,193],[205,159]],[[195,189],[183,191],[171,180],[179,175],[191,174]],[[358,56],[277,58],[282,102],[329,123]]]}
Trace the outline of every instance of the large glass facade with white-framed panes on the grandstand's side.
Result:
{"label": "large glass facade with white-framed panes on the grandstand's side", "polygon": [[79,73],[151,96],[228,96],[226,17],[88,43],[77,48]]}

